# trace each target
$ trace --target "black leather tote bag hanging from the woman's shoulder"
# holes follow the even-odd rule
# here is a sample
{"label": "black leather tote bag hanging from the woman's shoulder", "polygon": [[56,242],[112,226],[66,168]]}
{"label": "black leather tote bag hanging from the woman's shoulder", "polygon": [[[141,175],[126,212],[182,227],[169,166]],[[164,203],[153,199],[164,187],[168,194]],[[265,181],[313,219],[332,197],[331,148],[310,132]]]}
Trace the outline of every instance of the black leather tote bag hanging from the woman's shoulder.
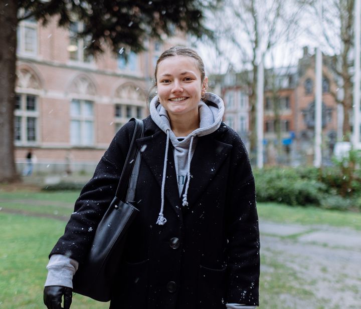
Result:
{"label": "black leather tote bag hanging from the woman's shoulder", "polygon": [[[119,266],[127,229],[137,212],[134,200],[135,186],[140,166],[140,152],[135,140],[143,137],[143,122],[135,121],[127,158],[113,201],[96,229],[93,244],[85,263],[73,277],[73,291],[99,301],[109,301],[114,281],[119,280]],[[126,202],[121,199],[127,193]]]}

